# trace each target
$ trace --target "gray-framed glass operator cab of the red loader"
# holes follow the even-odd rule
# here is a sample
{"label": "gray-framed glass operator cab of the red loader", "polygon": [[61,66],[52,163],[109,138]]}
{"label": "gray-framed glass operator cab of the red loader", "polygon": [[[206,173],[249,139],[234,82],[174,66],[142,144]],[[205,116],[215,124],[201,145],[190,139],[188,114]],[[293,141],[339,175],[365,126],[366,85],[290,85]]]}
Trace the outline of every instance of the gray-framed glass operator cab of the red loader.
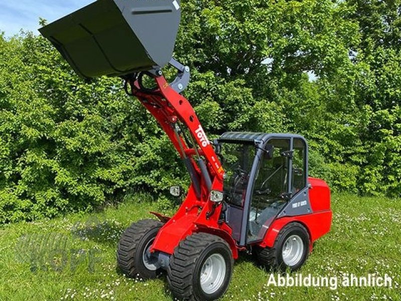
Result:
{"label": "gray-framed glass operator cab of the red loader", "polygon": [[[263,240],[278,217],[312,213],[304,137],[226,132],[217,142],[226,171],[225,218],[239,245]],[[293,206],[295,202],[297,205]],[[298,204],[302,206],[298,208]]]}

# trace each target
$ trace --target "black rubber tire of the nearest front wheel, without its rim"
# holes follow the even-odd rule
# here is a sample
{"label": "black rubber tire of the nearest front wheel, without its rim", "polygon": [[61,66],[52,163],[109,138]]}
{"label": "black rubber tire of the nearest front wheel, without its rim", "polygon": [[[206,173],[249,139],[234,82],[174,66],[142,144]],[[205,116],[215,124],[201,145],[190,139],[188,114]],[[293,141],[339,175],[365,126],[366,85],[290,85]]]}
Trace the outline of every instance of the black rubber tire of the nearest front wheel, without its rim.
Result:
{"label": "black rubber tire of the nearest front wheel, without its rim", "polygon": [[[208,293],[202,288],[200,275],[204,265],[207,265],[211,258],[219,258],[220,262],[223,262],[221,258],[224,258],[225,274],[220,277],[221,284],[218,284],[217,290]],[[195,233],[186,237],[175,248],[167,268],[167,282],[171,292],[178,299],[216,300],[226,292],[230,284],[233,265],[233,254],[224,239],[208,233]]]}

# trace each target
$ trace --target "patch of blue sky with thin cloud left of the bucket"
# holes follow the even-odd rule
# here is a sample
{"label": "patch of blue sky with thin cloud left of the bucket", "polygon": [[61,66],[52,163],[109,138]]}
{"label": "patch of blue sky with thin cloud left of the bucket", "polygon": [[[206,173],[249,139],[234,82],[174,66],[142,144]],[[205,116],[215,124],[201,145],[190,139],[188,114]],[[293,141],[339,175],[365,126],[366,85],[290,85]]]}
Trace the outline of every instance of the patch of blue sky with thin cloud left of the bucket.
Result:
{"label": "patch of blue sky with thin cloud left of the bucket", "polygon": [[39,18],[53,22],[95,0],[0,0],[0,32],[6,37],[20,29],[39,34]]}

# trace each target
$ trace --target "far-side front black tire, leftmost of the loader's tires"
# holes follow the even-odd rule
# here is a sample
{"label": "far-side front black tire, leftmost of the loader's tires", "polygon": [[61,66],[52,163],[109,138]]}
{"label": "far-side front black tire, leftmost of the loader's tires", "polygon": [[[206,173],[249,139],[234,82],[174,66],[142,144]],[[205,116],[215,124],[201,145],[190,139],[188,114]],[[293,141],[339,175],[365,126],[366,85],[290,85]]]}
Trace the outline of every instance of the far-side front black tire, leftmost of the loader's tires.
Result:
{"label": "far-side front black tire, leftmost of the loader's tires", "polygon": [[127,277],[152,279],[160,274],[160,269],[148,269],[142,256],[161,226],[159,221],[145,219],[133,223],[123,232],[117,247],[117,263]]}

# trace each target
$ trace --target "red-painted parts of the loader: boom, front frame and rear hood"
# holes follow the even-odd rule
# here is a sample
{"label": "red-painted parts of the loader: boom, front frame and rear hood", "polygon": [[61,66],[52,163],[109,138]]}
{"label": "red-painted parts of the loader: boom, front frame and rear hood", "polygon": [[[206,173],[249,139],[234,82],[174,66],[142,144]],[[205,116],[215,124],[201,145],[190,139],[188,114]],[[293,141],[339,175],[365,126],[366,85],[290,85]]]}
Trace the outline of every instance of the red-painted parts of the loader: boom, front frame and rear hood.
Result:
{"label": "red-painted parts of the loader: boom, front frame and rear hood", "polygon": [[[232,237],[232,229],[224,222],[219,221],[222,204],[211,202],[210,190],[202,177],[202,173],[192,158],[195,154],[205,158],[207,169],[212,180],[212,190],[223,191],[224,170],[209,142],[202,125],[200,124],[189,101],[170,87],[163,76],[154,77],[157,84],[152,93],[143,92],[137,81],[131,81],[132,94],[135,95],[145,108],[157,119],[163,130],[171,139],[181,158],[190,158],[196,177],[200,183],[200,197],[196,196],[193,184],[189,187],[187,196],[182,205],[171,218],[161,217],[167,222],[159,230],[151,252],[159,251],[172,254],[188,235],[196,232],[206,232],[223,238],[230,245],[233,258],[238,258],[238,251],[245,250],[246,246],[239,246]],[[176,132],[175,123],[184,124],[190,134],[195,137],[197,149],[189,148],[185,139]],[[319,179],[308,178],[312,214],[276,219],[267,231],[264,240],[259,242],[260,247],[273,247],[280,230],[290,222],[304,225],[309,232],[310,251],[313,242],[330,230],[332,213],[330,210],[330,190],[327,184]],[[213,212],[213,214],[211,214]]]}

